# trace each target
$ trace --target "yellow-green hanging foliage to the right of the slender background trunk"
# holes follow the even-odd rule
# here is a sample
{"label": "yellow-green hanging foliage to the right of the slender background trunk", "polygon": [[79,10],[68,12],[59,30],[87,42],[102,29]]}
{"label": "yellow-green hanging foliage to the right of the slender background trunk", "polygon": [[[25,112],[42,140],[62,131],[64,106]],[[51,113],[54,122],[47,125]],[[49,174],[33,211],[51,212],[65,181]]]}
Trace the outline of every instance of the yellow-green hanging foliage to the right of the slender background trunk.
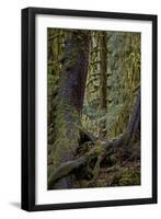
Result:
{"label": "yellow-green hanging foliage to the right of the slender background trunk", "polygon": [[140,85],[140,34],[120,32],[114,35],[108,41],[111,76],[107,83],[111,88],[108,113],[116,110],[116,119],[108,127],[110,138],[115,138],[125,129]]}

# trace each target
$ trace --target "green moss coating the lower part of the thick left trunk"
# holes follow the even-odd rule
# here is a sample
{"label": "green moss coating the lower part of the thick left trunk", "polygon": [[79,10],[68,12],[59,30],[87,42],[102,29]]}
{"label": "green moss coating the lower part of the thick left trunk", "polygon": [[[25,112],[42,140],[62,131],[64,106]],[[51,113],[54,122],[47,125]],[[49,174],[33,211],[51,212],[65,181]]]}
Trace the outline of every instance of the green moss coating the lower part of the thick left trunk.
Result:
{"label": "green moss coating the lower part of the thick left trunk", "polygon": [[68,104],[59,103],[55,119],[55,151],[53,153],[54,169],[61,164],[64,155],[69,155],[79,145],[79,124],[78,113]]}

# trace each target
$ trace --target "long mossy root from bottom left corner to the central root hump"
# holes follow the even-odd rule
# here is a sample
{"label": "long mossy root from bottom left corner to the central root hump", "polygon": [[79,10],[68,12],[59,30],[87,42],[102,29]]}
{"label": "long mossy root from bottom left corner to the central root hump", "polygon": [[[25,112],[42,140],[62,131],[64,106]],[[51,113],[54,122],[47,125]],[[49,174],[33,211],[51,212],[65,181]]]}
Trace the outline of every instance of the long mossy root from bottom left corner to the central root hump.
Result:
{"label": "long mossy root from bottom left corner to the central root hump", "polygon": [[[120,153],[123,153],[123,154],[120,154]],[[112,155],[113,155],[113,158],[112,158]],[[115,158],[114,158],[114,155],[115,155]],[[130,150],[124,149],[123,147],[118,148],[118,143],[116,140],[114,140],[114,141],[97,140],[97,141],[95,141],[93,147],[91,147],[91,149],[89,149],[89,151],[87,153],[84,153],[81,157],[78,157],[74,160],[67,161],[67,162],[62,163],[59,168],[57,168],[56,171],[51,171],[51,174],[48,178],[48,185],[49,185],[49,187],[54,187],[54,184],[57,181],[59,181],[60,178],[62,178],[67,175],[70,175],[76,170],[80,169],[81,166],[87,166],[87,169],[88,169],[88,165],[90,165],[90,163],[93,160],[96,160],[96,162],[94,162],[94,166],[92,169],[93,177],[90,182],[91,184],[93,184],[99,176],[101,163],[106,159],[106,157],[108,157],[111,160],[113,160],[113,162],[115,162],[117,160],[117,163],[118,163],[119,159],[124,160],[120,155],[122,157],[126,155],[126,157],[128,157],[129,160],[133,157],[135,157],[134,150],[130,151]]]}

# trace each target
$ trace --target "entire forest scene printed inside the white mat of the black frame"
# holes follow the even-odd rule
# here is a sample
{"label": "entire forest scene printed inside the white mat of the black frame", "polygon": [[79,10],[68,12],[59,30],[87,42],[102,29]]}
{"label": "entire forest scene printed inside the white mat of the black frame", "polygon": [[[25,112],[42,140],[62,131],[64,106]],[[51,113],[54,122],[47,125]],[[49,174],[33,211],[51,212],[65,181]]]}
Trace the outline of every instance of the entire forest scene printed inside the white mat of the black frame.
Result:
{"label": "entire forest scene printed inside the white mat of the black frame", "polygon": [[140,42],[47,28],[48,189],[140,184]]}

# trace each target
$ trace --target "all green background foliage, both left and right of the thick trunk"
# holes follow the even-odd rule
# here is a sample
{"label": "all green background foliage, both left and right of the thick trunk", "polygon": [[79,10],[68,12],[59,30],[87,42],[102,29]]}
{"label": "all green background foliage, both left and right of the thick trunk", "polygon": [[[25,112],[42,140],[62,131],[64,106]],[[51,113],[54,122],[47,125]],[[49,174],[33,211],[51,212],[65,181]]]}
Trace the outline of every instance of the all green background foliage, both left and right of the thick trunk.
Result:
{"label": "all green background foliage, both left and right of the thick trunk", "polygon": [[[82,31],[83,33],[83,31]],[[101,108],[101,36],[91,31],[89,72],[83,102],[82,125],[95,136],[105,124],[106,137],[123,132],[140,87],[140,33],[106,32],[106,108]],[[48,127],[54,120],[54,110],[59,76],[64,70],[65,42],[71,30],[48,28]],[[80,34],[81,37],[81,34]],[[72,59],[71,59],[72,62]],[[67,62],[65,62],[67,66]],[[68,65],[69,66],[69,65]]]}

